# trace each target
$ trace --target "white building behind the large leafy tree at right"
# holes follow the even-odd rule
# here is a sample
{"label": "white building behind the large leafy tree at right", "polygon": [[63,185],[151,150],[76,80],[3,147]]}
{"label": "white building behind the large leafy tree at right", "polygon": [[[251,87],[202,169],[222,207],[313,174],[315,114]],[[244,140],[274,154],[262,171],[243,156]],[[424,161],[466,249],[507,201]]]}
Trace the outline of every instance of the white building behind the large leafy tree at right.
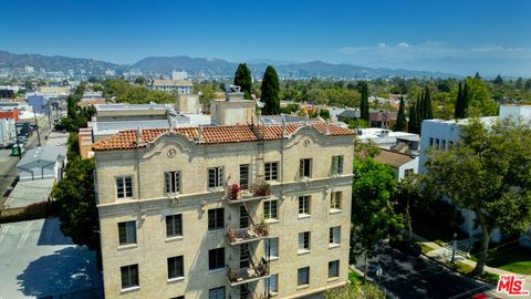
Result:
{"label": "white building behind the large leafy tree at right", "polygon": [[[489,126],[499,118],[521,118],[523,121],[531,120],[531,106],[529,105],[501,105],[500,116],[481,117],[480,121]],[[420,137],[420,148],[437,147],[441,151],[447,151],[451,145],[456,144],[460,140],[460,127],[468,123],[468,118],[465,120],[426,120],[423,122],[423,135]],[[419,172],[425,173],[426,168],[424,163],[426,161],[426,153],[420,153]],[[468,209],[461,210],[465,217],[465,223],[461,225],[461,229],[468,233],[470,236],[481,233],[479,228],[476,228],[473,212]],[[491,234],[491,238],[494,241],[501,240],[501,233],[499,229],[494,229]]]}

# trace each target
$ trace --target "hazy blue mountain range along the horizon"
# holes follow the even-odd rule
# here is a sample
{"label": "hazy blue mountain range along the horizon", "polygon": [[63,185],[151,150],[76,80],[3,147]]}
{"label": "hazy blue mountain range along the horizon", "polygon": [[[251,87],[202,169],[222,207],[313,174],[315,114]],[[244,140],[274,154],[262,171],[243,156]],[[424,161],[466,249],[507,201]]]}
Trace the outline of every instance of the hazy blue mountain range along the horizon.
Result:
{"label": "hazy blue mountain range along the horizon", "polygon": [[[282,78],[336,78],[336,79],[360,79],[360,78],[448,78],[457,76],[444,72],[409,71],[394,69],[373,69],[352,64],[333,64],[322,61],[304,63],[277,62],[268,60],[254,60],[248,63],[254,76],[261,76],[267,65],[271,63]],[[169,74],[173,70],[184,70],[191,75],[206,76],[231,76],[238,63],[222,59],[179,56],[149,56],[132,65],[115,64],[83,58],[67,58],[61,55],[48,56],[41,54],[14,54],[0,51],[0,69],[23,69],[30,65],[35,70],[77,72],[84,70],[87,74],[104,74],[106,70],[113,70],[122,74],[131,69],[139,69],[145,74]]]}

